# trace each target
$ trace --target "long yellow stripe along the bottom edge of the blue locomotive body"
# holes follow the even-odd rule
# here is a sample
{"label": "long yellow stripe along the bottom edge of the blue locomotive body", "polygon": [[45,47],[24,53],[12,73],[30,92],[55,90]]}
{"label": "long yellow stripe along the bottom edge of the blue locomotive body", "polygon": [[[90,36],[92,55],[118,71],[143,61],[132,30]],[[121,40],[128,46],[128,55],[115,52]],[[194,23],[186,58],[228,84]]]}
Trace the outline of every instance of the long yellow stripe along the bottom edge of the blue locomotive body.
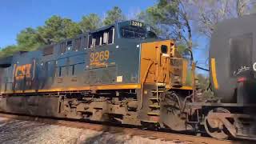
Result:
{"label": "long yellow stripe along the bottom edge of the blue locomotive body", "polygon": [[[49,90],[38,90],[38,92],[58,92],[58,91],[80,91],[80,90],[124,90],[124,89],[140,89],[140,84],[126,84],[126,85],[105,85],[105,86],[77,86],[77,87],[61,87]],[[20,94],[20,93],[35,93],[36,90],[8,90],[2,94]]]}

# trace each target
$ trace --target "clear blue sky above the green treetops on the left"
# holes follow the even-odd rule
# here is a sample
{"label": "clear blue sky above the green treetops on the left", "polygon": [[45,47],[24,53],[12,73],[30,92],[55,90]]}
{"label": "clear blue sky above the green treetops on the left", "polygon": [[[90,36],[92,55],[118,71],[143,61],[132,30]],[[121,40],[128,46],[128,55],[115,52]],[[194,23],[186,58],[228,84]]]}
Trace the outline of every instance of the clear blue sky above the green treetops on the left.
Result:
{"label": "clear blue sky above the green treetops on the left", "polygon": [[129,18],[139,10],[153,6],[156,0],[7,0],[0,4],[0,47],[16,43],[16,35],[26,27],[42,26],[57,14],[78,22],[82,15],[96,13],[104,17],[107,10],[119,6]]}

